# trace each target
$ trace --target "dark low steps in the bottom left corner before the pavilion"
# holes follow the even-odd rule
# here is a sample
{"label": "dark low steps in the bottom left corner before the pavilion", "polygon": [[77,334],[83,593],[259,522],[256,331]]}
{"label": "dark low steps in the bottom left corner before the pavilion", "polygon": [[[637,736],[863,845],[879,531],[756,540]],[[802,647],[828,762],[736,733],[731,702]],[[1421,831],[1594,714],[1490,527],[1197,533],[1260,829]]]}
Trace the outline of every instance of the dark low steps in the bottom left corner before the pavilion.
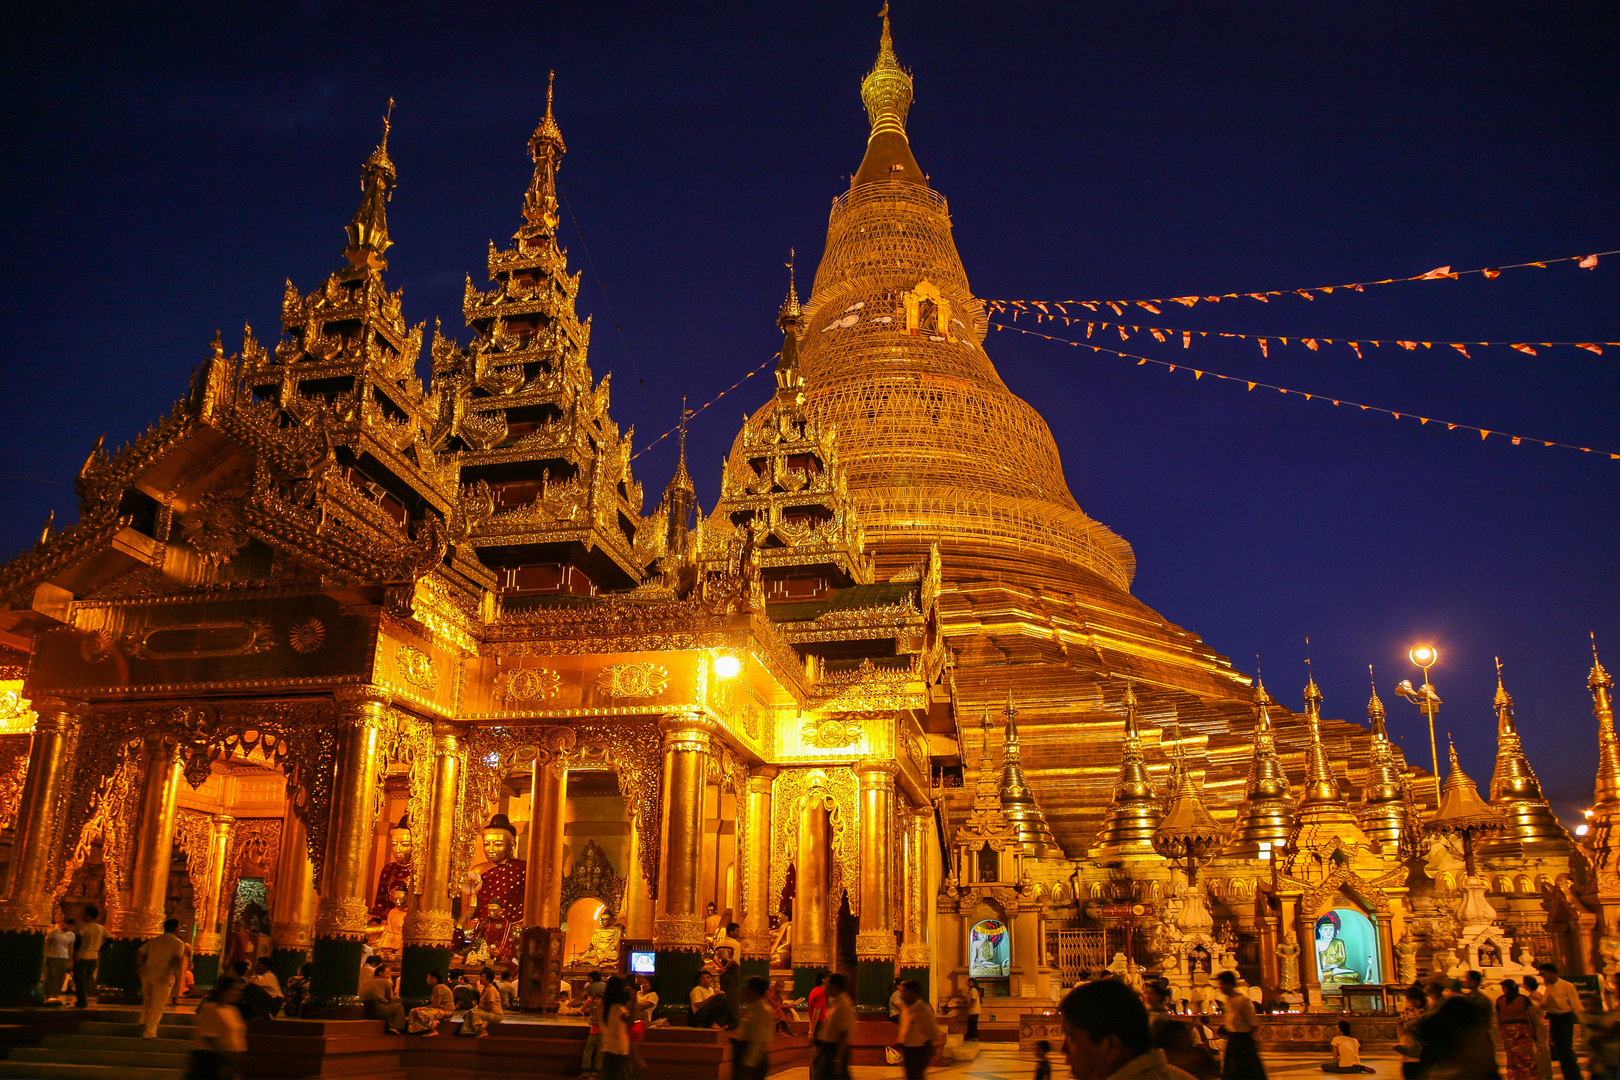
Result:
{"label": "dark low steps in the bottom left corner before the pavilion", "polygon": [[78,1031],[47,1031],[37,1046],[8,1046],[0,1077],[180,1080],[191,1052],[190,1012],[165,1012],[156,1040],[141,1038],[134,1009],[97,1009]]}

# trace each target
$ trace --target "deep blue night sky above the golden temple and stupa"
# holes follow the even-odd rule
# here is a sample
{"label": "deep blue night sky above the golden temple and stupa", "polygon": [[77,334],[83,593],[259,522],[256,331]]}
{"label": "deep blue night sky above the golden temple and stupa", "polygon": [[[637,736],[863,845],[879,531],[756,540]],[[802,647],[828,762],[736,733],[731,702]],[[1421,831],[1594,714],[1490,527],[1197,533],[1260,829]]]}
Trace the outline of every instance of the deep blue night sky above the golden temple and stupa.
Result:
{"label": "deep blue night sky above the golden temple and stupa", "polygon": [[[682,393],[776,351],[865,146],[876,0],[747,5],[211,5],[13,15],[0,194],[0,552],[32,542],[97,434],[138,434],[215,329],[274,340],[282,282],[340,261],[387,97],[400,183],[387,280],[465,340],[462,279],[517,228],[557,70],[564,217],[591,364],[637,444]],[[695,8],[695,10],[682,10]],[[1170,296],[1401,277],[1620,248],[1614,5],[896,0],[917,160],[993,298]],[[156,19],[156,21],[154,21]],[[1620,340],[1620,256],[1495,282],[1166,309],[1176,327],[1315,337]],[[609,316],[609,308],[622,334]],[[1174,314],[1171,314],[1171,311]],[[1137,351],[1330,397],[1620,450],[1620,350]],[[1591,797],[1588,631],[1620,670],[1620,461],[1244,393],[1014,334],[1001,376],[1047,416],[1081,507],[1136,546],[1136,593],[1298,701],[1304,638],[1333,716],[1393,695],[1413,640],[1442,727],[1490,776],[1492,656],[1568,818]],[[768,384],[693,426],[719,457]],[[637,461],[650,497],[672,440]],[[53,483],[37,483],[53,481]],[[1443,737],[1443,733],[1442,733]],[[1442,750],[1443,753],[1443,750]]]}

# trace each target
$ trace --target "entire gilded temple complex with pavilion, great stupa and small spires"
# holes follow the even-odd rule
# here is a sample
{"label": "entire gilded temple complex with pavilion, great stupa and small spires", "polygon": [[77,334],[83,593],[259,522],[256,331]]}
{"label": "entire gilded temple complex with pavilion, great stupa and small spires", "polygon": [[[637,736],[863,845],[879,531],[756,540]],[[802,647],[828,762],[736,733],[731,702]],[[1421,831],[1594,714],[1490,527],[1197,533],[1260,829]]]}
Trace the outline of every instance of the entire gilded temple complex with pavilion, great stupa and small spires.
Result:
{"label": "entire gilded temple complex with pavilion, great stupa and small spires", "polygon": [[1596,656],[1576,845],[1503,682],[1489,795],[1455,756],[1435,790],[1375,691],[1367,727],[1333,721],[1307,675],[1294,712],[1134,599],[1129,544],[985,353],[886,15],[860,94],[865,157],[706,515],[684,436],[648,507],[591,371],[551,94],[462,334],[387,287],[384,121],[279,340],[215,340],[167,416],[96,445],[79,520],[0,568],[6,996],[86,902],[110,991],[183,916],[201,983],[258,931],[329,1009],[361,942],[407,997],[522,957],[536,1006],[632,952],[666,1001],[731,949],[800,989],[846,967],[875,1010],[897,972],[1034,1010],[1081,967],[1322,1007],[1620,963]]}

